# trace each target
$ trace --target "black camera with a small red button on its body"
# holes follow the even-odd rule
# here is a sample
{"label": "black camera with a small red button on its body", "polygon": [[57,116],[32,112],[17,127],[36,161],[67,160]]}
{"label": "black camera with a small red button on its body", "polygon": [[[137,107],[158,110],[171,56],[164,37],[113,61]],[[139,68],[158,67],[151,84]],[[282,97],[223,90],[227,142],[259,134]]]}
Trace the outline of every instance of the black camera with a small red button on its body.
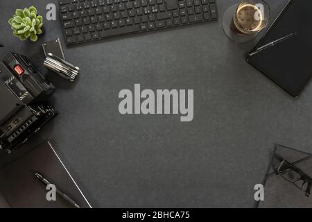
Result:
{"label": "black camera with a small red button on its body", "polygon": [[0,150],[24,144],[55,117],[46,104],[54,91],[26,56],[8,53],[0,60]]}

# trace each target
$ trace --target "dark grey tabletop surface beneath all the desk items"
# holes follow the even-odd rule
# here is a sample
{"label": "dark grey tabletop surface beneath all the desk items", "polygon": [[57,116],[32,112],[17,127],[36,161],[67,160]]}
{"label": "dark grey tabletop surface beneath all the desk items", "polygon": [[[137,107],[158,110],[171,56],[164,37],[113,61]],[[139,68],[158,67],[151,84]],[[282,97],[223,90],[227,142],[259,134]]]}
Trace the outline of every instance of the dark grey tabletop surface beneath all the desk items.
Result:
{"label": "dark grey tabletop surface beneath all the desk items", "polygon": [[[49,1],[0,1],[0,43],[42,73],[42,42],[62,38],[46,22],[36,43],[12,37],[15,8]],[[252,207],[275,143],[312,152],[312,85],[293,99],[245,62],[256,40],[235,44],[219,22],[67,48],[76,83],[47,74],[60,115],[20,151],[51,139],[94,207]],[[272,18],[285,0],[270,0]],[[260,37],[260,36],[259,36]],[[258,37],[258,39],[259,39]],[[194,119],[119,114],[121,89],[194,89]],[[1,163],[8,157],[1,157]]]}

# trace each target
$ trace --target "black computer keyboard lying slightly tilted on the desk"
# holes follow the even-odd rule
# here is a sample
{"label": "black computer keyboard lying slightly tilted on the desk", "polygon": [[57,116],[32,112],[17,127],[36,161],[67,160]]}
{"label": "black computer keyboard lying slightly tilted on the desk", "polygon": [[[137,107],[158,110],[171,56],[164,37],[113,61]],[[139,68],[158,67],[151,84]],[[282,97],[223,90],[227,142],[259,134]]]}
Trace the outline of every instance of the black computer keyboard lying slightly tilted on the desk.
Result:
{"label": "black computer keyboard lying slightly tilted on the desk", "polygon": [[216,0],[60,0],[67,45],[218,18]]}

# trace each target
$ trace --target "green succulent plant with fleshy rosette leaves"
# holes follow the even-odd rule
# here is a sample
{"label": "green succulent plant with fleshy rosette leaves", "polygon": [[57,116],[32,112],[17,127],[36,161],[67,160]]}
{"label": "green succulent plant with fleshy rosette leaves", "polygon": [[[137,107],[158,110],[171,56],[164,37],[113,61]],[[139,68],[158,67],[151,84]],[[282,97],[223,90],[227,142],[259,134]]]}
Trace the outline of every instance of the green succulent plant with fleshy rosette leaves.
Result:
{"label": "green succulent plant with fleshy rosette leaves", "polygon": [[37,15],[37,8],[34,6],[24,8],[24,10],[17,9],[8,23],[13,30],[13,35],[22,41],[30,38],[31,41],[36,42],[37,35],[42,33],[43,19],[42,16]]}

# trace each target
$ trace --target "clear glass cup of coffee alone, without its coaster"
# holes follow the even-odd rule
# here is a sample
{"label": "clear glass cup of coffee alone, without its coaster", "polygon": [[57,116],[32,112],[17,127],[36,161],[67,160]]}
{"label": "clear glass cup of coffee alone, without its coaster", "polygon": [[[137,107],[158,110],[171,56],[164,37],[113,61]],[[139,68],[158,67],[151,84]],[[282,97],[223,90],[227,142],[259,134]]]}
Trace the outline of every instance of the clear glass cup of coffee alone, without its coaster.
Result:
{"label": "clear glass cup of coffee alone, without its coaster", "polygon": [[243,0],[233,17],[232,30],[238,35],[258,33],[266,28],[270,19],[270,8],[263,0]]}

